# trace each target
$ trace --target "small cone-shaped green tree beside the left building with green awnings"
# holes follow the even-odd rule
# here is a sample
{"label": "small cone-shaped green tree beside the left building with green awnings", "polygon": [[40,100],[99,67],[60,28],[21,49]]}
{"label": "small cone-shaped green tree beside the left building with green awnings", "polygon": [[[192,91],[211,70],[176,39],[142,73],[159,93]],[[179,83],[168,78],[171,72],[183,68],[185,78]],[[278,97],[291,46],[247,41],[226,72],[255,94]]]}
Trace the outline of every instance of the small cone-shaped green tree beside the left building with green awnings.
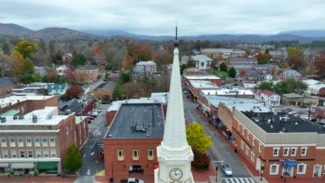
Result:
{"label": "small cone-shaped green tree beside the left building with green awnings", "polygon": [[63,166],[68,171],[76,171],[83,166],[83,157],[78,148],[76,148],[76,145],[72,144],[67,149],[67,157],[65,158],[65,162],[63,162]]}

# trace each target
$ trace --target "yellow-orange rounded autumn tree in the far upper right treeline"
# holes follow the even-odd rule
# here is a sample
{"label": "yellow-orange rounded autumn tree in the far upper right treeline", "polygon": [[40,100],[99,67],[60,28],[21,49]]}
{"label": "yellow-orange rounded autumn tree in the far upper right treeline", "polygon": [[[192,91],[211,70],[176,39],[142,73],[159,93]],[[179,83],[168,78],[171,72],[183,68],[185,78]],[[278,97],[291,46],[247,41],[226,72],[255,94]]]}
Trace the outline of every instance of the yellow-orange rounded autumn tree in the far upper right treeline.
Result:
{"label": "yellow-orange rounded autumn tree in the far upper right treeline", "polygon": [[290,64],[292,69],[301,69],[305,67],[305,54],[300,49],[292,47],[288,49],[287,62]]}

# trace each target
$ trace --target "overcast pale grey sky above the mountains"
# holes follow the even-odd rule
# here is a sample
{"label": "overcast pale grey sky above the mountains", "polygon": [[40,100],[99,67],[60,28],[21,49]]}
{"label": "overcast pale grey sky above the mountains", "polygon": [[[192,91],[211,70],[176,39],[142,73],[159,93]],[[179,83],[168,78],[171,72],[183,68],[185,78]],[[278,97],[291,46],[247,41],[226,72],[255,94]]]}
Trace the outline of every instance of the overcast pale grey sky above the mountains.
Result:
{"label": "overcast pale grey sky above the mountains", "polygon": [[[265,0],[266,1],[266,0]],[[325,29],[325,0],[0,0],[0,23],[143,35]]]}

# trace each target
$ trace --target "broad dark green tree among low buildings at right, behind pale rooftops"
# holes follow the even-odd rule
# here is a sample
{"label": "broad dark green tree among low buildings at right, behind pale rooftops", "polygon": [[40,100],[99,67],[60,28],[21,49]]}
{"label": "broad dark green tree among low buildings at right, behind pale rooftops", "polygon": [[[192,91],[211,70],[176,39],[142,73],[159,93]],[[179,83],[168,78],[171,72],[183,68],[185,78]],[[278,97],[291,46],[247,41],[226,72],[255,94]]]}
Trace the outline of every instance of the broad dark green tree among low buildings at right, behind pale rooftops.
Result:
{"label": "broad dark green tree among low buildings at right, behind pale rooftops", "polygon": [[296,78],[289,78],[287,80],[277,82],[273,89],[278,95],[290,93],[303,94],[303,91],[307,89],[307,85],[305,82],[297,80]]}

